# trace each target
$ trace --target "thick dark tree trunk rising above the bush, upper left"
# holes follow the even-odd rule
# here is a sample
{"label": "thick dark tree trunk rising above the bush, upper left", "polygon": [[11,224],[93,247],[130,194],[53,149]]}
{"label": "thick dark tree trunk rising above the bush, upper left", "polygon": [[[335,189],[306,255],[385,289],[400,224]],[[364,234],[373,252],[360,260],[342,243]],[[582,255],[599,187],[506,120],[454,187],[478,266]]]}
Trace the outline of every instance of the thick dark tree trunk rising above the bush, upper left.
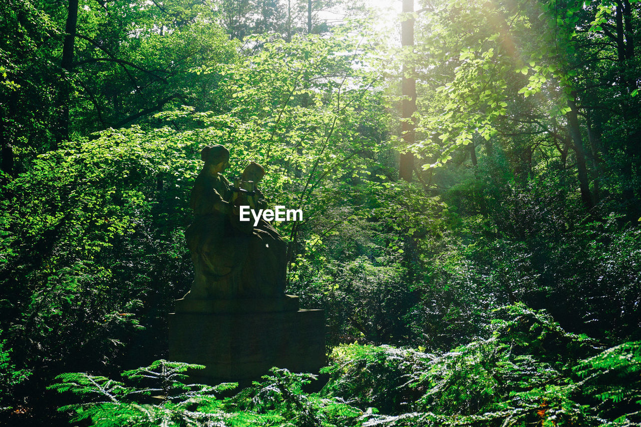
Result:
{"label": "thick dark tree trunk rising above the bush, upper left", "polygon": [[58,121],[58,133],[55,145],[52,149],[58,149],[63,140],[69,139],[69,94],[71,93],[71,81],[69,74],[74,64],[74,42],[76,41],[76,26],[78,24],[78,0],[69,0],[67,12],[67,25],[65,26],[65,38],[62,44],[62,60],[60,67],[63,69],[60,92],[58,94],[58,108],[60,108],[60,121]]}

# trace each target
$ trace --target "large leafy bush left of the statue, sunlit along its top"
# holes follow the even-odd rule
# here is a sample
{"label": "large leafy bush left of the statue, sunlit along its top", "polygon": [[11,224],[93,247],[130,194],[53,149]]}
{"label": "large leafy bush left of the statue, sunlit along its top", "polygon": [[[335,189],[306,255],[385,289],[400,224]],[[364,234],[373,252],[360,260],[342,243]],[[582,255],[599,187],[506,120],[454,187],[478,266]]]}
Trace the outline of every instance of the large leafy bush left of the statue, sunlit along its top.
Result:
{"label": "large leafy bush left of the statue, sunlit along its top", "polygon": [[70,351],[80,365],[113,360],[142,328],[149,296],[187,286],[182,233],[199,137],[140,128],[94,137],[38,157],[4,188],[3,292],[22,307],[8,333],[29,366],[66,363]]}

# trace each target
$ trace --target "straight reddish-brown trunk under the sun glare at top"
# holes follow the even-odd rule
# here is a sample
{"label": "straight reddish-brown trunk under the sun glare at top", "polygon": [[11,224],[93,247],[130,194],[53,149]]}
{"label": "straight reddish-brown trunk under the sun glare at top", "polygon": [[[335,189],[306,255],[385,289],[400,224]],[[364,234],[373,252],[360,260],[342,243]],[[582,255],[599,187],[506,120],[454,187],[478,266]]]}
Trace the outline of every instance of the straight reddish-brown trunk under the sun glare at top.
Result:
{"label": "straight reddish-brown trunk under the sun glare at top", "polygon": [[[403,0],[403,13],[414,12],[414,0]],[[401,45],[414,46],[414,19],[404,17],[401,23]],[[414,80],[414,69],[403,64],[403,103],[401,106],[401,133],[405,147],[410,147],[415,142],[413,113],[416,111],[416,81]],[[399,177],[405,181],[412,181],[414,170],[414,155],[412,151],[401,153],[399,162]]]}

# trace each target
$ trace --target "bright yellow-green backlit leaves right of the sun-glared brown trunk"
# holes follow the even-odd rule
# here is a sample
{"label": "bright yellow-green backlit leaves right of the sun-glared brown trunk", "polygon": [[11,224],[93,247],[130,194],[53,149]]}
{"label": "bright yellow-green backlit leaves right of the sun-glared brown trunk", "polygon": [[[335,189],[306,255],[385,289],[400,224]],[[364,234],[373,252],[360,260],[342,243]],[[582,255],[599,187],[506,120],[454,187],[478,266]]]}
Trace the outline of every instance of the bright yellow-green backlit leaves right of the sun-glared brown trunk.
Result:
{"label": "bright yellow-green backlit leaves right of the sun-glared brown trunk", "polygon": [[419,41],[404,61],[423,73],[417,73],[422,139],[414,151],[428,161],[424,168],[447,162],[470,135],[488,140],[515,113],[512,100],[535,97],[533,105],[545,103],[553,117],[567,111],[577,71],[564,55],[574,51],[580,9],[447,1],[419,15]]}

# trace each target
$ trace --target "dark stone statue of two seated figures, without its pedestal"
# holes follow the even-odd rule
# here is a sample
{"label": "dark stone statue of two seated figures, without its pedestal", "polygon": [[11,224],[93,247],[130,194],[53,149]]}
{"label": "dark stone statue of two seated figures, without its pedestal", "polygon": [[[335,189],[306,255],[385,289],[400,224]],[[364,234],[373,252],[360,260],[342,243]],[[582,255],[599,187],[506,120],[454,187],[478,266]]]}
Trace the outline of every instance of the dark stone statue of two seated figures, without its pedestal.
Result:
{"label": "dark stone statue of two seated figures, without its pedestal", "polygon": [[240,221],[240,206],[267,206],[256,184],[265,175],[250,163],[235,187],[222,176],[229,151],[220,145],[204,147],[203,170],[192,188],[194,222],[185,237],[194,262],[194,283],[188,299],[285,297],[285,242],[264,220]]}

